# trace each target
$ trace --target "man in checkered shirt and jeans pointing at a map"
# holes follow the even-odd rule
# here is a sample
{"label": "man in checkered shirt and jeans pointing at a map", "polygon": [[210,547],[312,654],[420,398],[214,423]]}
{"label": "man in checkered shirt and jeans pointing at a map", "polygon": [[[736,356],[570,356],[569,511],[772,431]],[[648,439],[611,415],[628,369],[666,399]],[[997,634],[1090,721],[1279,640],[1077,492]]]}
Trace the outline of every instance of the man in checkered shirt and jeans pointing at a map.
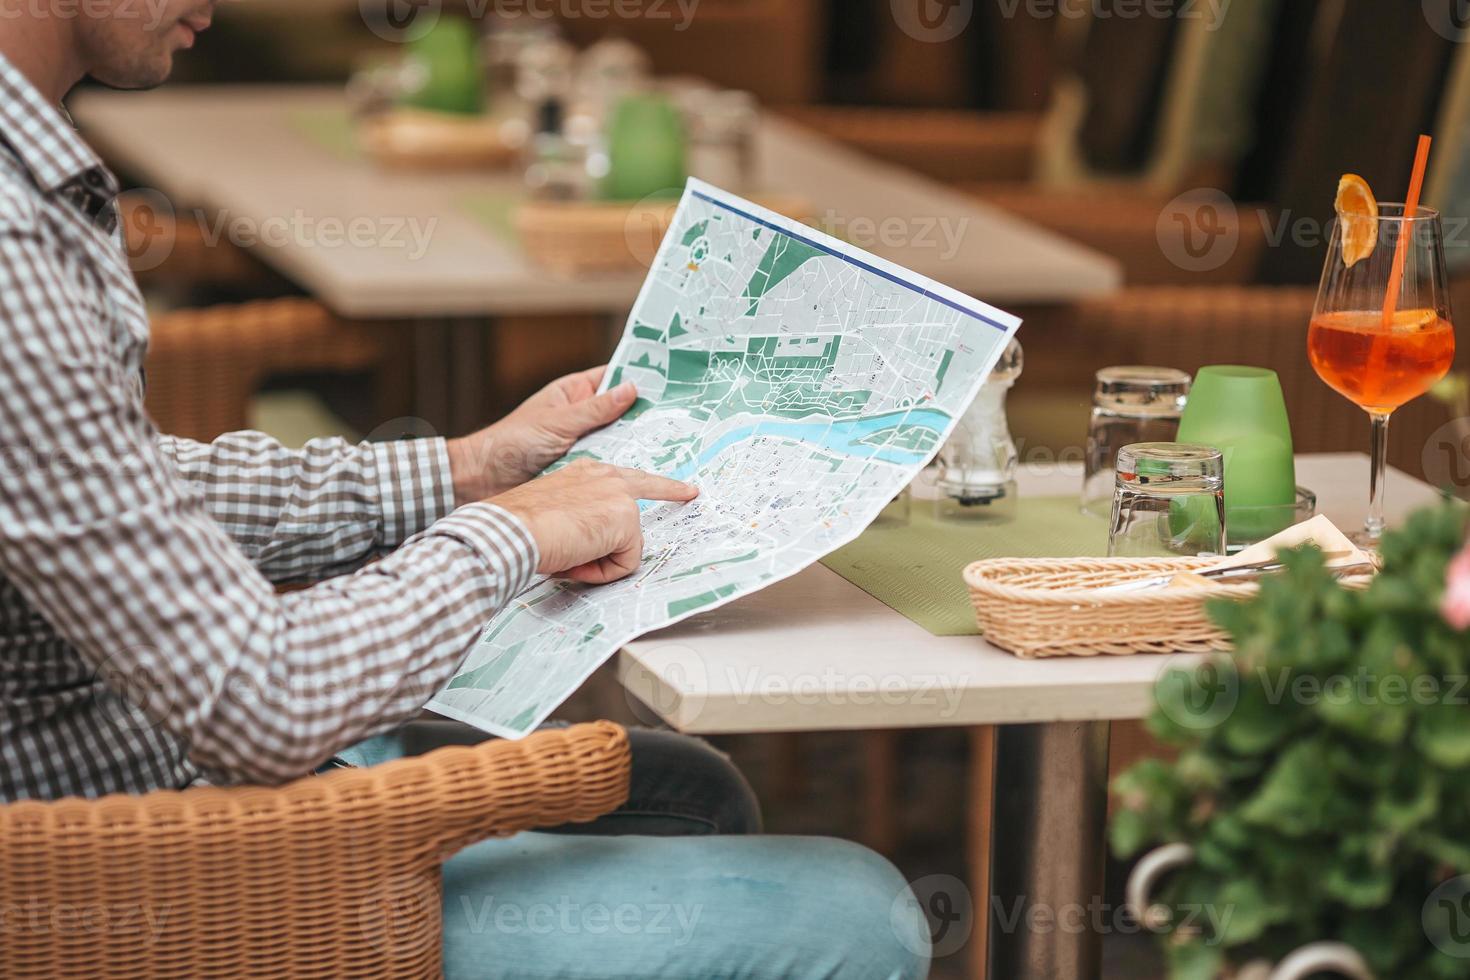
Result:
{"label": "man in checkered shirt and jeans pointing at a map", "polygon": [[[634,403],[632,385],[597,394],[601,369],[463,439],[160,435],[118,184],[60,104],[88,73],[160,84],[212,13],[0,0],[0,805],[278,783],[473,741],[407,723],[481,626],[537,573],[631,573],[637,501],[697,495],[589,463],[532,479]],[[287,579],[316,585],[276,594]],[[750,788],[700,742],[635,732],[634,760],[629,802],[579,835],[448,861],[450,976],[925,974],[928,932],[891,865],[754,836]],[[554,942],[529,926],[542,907]],[[598,908],[642,927],[598,929]]]}

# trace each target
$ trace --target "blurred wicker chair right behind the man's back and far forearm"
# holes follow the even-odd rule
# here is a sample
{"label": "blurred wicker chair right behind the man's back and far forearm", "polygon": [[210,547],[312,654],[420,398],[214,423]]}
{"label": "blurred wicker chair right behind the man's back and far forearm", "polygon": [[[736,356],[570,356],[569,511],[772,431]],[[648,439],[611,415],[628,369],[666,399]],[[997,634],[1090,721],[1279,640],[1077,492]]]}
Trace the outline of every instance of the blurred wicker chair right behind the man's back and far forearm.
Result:
{"label": "blurred wicker chair right behind the man's back and far forearm", "polygon": [[387,370],[385,329],[298,298],[159,314],[150,323],[148,413],[162,432],[191,439],[244,429],[251,397],[272,375]]}

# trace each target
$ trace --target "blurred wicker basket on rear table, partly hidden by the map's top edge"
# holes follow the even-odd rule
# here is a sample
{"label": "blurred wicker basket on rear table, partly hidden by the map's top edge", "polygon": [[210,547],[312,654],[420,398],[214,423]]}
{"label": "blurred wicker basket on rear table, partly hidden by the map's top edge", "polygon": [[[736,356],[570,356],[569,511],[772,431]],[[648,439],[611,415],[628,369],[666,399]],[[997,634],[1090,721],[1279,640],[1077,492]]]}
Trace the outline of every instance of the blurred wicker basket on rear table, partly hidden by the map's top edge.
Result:
{"label": "blurred wicker basket on rear table, partly hidden by the map's top edge", "polygon": [[[751,200],[798,222],[811,216],[811,204],[798,197]],[[516,232],[526,257],[559,275],[631,275],[653,264],[676,206],[672,198],[526,201],[516,212]]]}

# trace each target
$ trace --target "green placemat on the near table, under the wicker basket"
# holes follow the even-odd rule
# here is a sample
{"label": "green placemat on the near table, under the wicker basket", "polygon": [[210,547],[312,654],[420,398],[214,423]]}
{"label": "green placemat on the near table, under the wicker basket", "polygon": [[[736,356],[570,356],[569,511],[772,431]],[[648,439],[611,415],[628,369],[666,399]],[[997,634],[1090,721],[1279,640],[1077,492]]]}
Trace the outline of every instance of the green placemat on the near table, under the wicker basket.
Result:
{"label": "green placemat on the near table, under the wicker basket", "polygon": [[935,636],[979,633],[964,566],[980,558],[1066,558],[1107,554],[1107,522],[1078,510],[1076,497],[1022,497],[1007,523],[939,523],[933,502],[914,500],[908,525],[875,525],[822,564]]}

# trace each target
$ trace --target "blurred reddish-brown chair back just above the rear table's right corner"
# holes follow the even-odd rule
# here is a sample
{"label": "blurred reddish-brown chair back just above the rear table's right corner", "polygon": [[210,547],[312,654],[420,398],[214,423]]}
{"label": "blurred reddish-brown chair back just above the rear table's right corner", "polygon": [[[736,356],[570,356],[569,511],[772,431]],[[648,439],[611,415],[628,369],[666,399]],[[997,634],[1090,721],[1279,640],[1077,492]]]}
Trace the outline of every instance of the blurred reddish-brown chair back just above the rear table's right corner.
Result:
{"label": "blurred reddish-brown chair back just above the rear table's right corner", "polygon": [[[963,190],[1123,263],[1127,285],[1241,285],[1255,278],[1267,244],[1264,207],[1239,204],[1220,213],[1213,234],[1236,235],[1219,266],[1189,269],[1166,251],[1180,234],[1170,223],[1170,198],[1127,188],[1058,190],[1016,184],[966,184]],[[1208,241],[1208,239],[1207,239]],[[1202,241],[1201,244],[1207,244]],[[1179,244],[1182,247],[1182,242]]]}

